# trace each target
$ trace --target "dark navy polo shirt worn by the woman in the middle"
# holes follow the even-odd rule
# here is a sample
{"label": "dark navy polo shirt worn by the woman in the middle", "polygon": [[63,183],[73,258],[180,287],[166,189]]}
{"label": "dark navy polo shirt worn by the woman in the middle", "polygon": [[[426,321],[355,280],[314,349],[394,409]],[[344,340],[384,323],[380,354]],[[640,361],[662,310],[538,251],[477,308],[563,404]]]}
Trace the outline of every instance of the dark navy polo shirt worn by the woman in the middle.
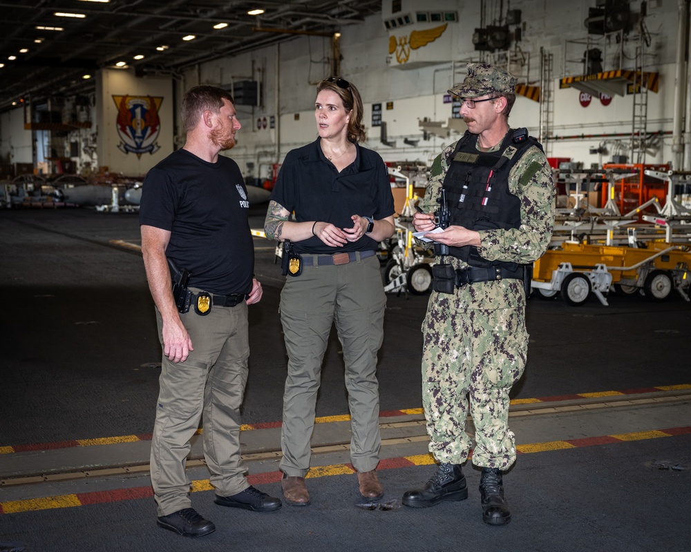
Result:
{"label": "dark navy polo shirt worn by the woman in the middle", "polygon": [[[290,151],[278,172],[271,199],[294,212],[298,222],[324,221],[352,228],[352,215],[384,219],[395,213],[391,183],[384,161],[375,151],[355,144],[355,161],[341,172],[326,159],[321,138]],[[377,242],[363,236],[334,248],[316,236],[294,242],[296,253],[341,253],[375,250]]]}

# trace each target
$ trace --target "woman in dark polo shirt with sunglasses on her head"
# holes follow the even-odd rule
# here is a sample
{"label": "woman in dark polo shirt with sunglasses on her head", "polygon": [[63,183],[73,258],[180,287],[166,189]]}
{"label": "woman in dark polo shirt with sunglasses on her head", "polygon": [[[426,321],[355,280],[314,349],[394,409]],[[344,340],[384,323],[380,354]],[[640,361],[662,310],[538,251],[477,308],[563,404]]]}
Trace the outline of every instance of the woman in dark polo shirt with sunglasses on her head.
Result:
{"label": "woman in dark polo shirt with sunglasses on her head", "polygon": [[[264,224],[267,238],[292,244],[280,306],[288,354],[281,471],[285,501],[294,506],[310,504],[305,475],[332,324],[343,346],[359,491],[369,499],[384,495],[375,469],[386,295],[375,251],[394,232],[393,197],[384,161],[359,145],[365,130],[357,88],[331,77],[316,91],[319,137],[286,155]],[[288,220],[291,213],[295,221]]]}

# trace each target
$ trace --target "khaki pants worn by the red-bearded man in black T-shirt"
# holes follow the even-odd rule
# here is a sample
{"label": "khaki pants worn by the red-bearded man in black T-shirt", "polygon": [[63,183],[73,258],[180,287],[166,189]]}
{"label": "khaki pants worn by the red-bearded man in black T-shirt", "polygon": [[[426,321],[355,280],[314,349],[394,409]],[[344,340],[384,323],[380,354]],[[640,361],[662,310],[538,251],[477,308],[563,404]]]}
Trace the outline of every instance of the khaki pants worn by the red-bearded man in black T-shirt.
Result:
{"label": "khaki pants worn by the red-bearded man in black T-shirt", "polygon": [[[156,315],[162,340],[158,309]],[[206,316],[190,308],[180,318],[194,351],[178,364],[163,356],[151,442],[151,484],[159,516],[190,507],[184,466],[202,413],[204,457],[216,493],[234,495],[249,486],[240,457],[240,405],[249,358],[247,303],[213,306]]]}

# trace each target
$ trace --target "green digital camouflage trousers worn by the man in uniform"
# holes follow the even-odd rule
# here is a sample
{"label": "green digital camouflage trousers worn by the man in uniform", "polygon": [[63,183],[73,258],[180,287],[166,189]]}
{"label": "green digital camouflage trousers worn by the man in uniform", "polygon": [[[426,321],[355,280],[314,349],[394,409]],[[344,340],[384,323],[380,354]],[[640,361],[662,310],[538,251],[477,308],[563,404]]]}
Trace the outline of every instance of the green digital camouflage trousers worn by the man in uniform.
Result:
{"label": "green digital camouflage trousers worn by the man in uniform", "polygon": [[515,461],[509,391],[521,377],[528,333],[524,306],[457,308],[457,295],[432,293],[422,325],[422,399],[430,453],[462,464],[473,442],[473,464],[508,469]]}

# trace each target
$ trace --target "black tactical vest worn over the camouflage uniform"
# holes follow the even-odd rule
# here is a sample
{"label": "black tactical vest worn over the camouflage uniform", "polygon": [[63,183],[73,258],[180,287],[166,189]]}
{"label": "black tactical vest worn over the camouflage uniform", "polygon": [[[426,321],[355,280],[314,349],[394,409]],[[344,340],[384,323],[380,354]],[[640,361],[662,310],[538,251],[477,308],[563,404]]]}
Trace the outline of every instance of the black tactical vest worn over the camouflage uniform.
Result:
{"label": "black tactical vest worn over the camouflage uniform", "polygon": [[[471,230],[518,228],[520,198],[509,192],[509,172],[530,146],[542,146],[529,137],[525,128],[511,130],[495,152],[475,148],[477,135],[466,131],[449,159],[444,177],[446,203],[451,211],[451,225]],[[489,262],[480,257],[474,246],[449,247],[449,255],[471,266],[504,266],[518,268],[510,262]]]}

